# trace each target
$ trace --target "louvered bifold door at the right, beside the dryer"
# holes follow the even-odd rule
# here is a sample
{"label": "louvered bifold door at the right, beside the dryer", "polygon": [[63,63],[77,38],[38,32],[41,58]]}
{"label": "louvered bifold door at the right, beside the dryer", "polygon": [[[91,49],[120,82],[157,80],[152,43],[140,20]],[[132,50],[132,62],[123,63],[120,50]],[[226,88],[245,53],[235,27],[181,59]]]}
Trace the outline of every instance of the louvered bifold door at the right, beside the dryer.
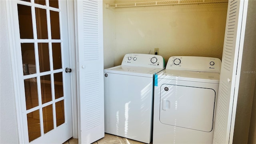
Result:
{"label": "louvered bifold door at the right, beside the dryer", "polygon": [[[244,0],[229,0],[213,143],[232,143],[230,134]],[[236,108],[236,105],[235,107]],[[231,130],[233,132],[233,130]],[[231,139],[231,140],[230,140]]]}

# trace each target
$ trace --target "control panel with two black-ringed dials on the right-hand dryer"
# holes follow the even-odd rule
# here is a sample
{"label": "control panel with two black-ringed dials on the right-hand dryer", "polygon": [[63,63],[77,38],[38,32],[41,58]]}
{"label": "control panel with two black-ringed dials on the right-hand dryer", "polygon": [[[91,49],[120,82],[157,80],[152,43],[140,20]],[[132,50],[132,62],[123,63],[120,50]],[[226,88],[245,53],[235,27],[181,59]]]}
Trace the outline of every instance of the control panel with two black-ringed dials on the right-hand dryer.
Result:
{"label": "control panel with two black-ringed dials on the right-hand dryer", "polygon": [[199,72],[220,72],[221,61],[219,58],[200,56],[172,56],[169,58],[166,69],[190,70]]}

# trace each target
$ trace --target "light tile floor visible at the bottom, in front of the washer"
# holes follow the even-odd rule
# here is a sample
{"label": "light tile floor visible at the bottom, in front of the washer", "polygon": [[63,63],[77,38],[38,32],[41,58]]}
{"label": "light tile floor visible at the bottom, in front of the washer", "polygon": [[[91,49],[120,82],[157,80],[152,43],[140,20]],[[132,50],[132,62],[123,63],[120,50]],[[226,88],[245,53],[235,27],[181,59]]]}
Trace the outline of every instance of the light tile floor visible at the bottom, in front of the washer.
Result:
{"label": "light tile floor visible at the bottom, in front of the washer", "polygon": [[[70,138],[63,144],[78,144],[78,139]],[[92,144],[145,144],[145,143],[105,133],[104,138],[97,140]],[[152,144],[152,142],[150,144]]]}

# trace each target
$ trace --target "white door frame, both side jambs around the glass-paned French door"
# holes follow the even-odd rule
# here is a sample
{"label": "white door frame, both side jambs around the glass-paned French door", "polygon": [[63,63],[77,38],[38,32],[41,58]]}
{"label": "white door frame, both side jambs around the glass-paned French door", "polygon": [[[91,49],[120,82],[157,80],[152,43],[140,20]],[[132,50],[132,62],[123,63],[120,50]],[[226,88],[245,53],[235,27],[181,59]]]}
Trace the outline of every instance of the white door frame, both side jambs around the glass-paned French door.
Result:
{"label": "white door frame, both side jambs around the glass-paned French door", "polygon": [[[12,20],[12,2],[6,0],[6,10],[7,24],[8,24],[8,39],[10,44],[10,58],[11,58],[11,68],[14,81],[14,95],[15,95],[15,105],[16,105],[16,116],[17,116],[17,126],[18,126],[18,140],[19,143],[24,143],[24,132],[22,124],[22,113],[21,113],[21,102],[20,102],[20,85],[19,74],[18,74],[18,64],[16,59],[15,51],[15,36],[14,36],[14,24]],[[78,115],[77,115],[77,86],[76,86],[76,43],[75,43],[75,27],[74,27],[74,1],[67,0],[67,11],[68,11],[68,43],[69,43],[69,53],[70,53],[70,68],[73,70],[70,73],[71,79],[71,100],[72,100],[72,129],[73,138],[78,138]]]}

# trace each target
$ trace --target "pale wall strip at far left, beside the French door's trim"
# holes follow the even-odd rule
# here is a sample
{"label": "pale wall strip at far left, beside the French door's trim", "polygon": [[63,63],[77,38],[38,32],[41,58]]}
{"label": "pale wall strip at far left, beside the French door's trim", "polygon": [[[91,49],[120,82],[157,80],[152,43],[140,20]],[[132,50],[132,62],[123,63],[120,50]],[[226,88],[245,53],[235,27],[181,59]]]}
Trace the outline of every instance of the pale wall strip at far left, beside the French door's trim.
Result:
{"label": "pale wall strip at far left, beside the French door's trim", "polygon": [[0,143],[18,144],[6,1],[0,0]]}

